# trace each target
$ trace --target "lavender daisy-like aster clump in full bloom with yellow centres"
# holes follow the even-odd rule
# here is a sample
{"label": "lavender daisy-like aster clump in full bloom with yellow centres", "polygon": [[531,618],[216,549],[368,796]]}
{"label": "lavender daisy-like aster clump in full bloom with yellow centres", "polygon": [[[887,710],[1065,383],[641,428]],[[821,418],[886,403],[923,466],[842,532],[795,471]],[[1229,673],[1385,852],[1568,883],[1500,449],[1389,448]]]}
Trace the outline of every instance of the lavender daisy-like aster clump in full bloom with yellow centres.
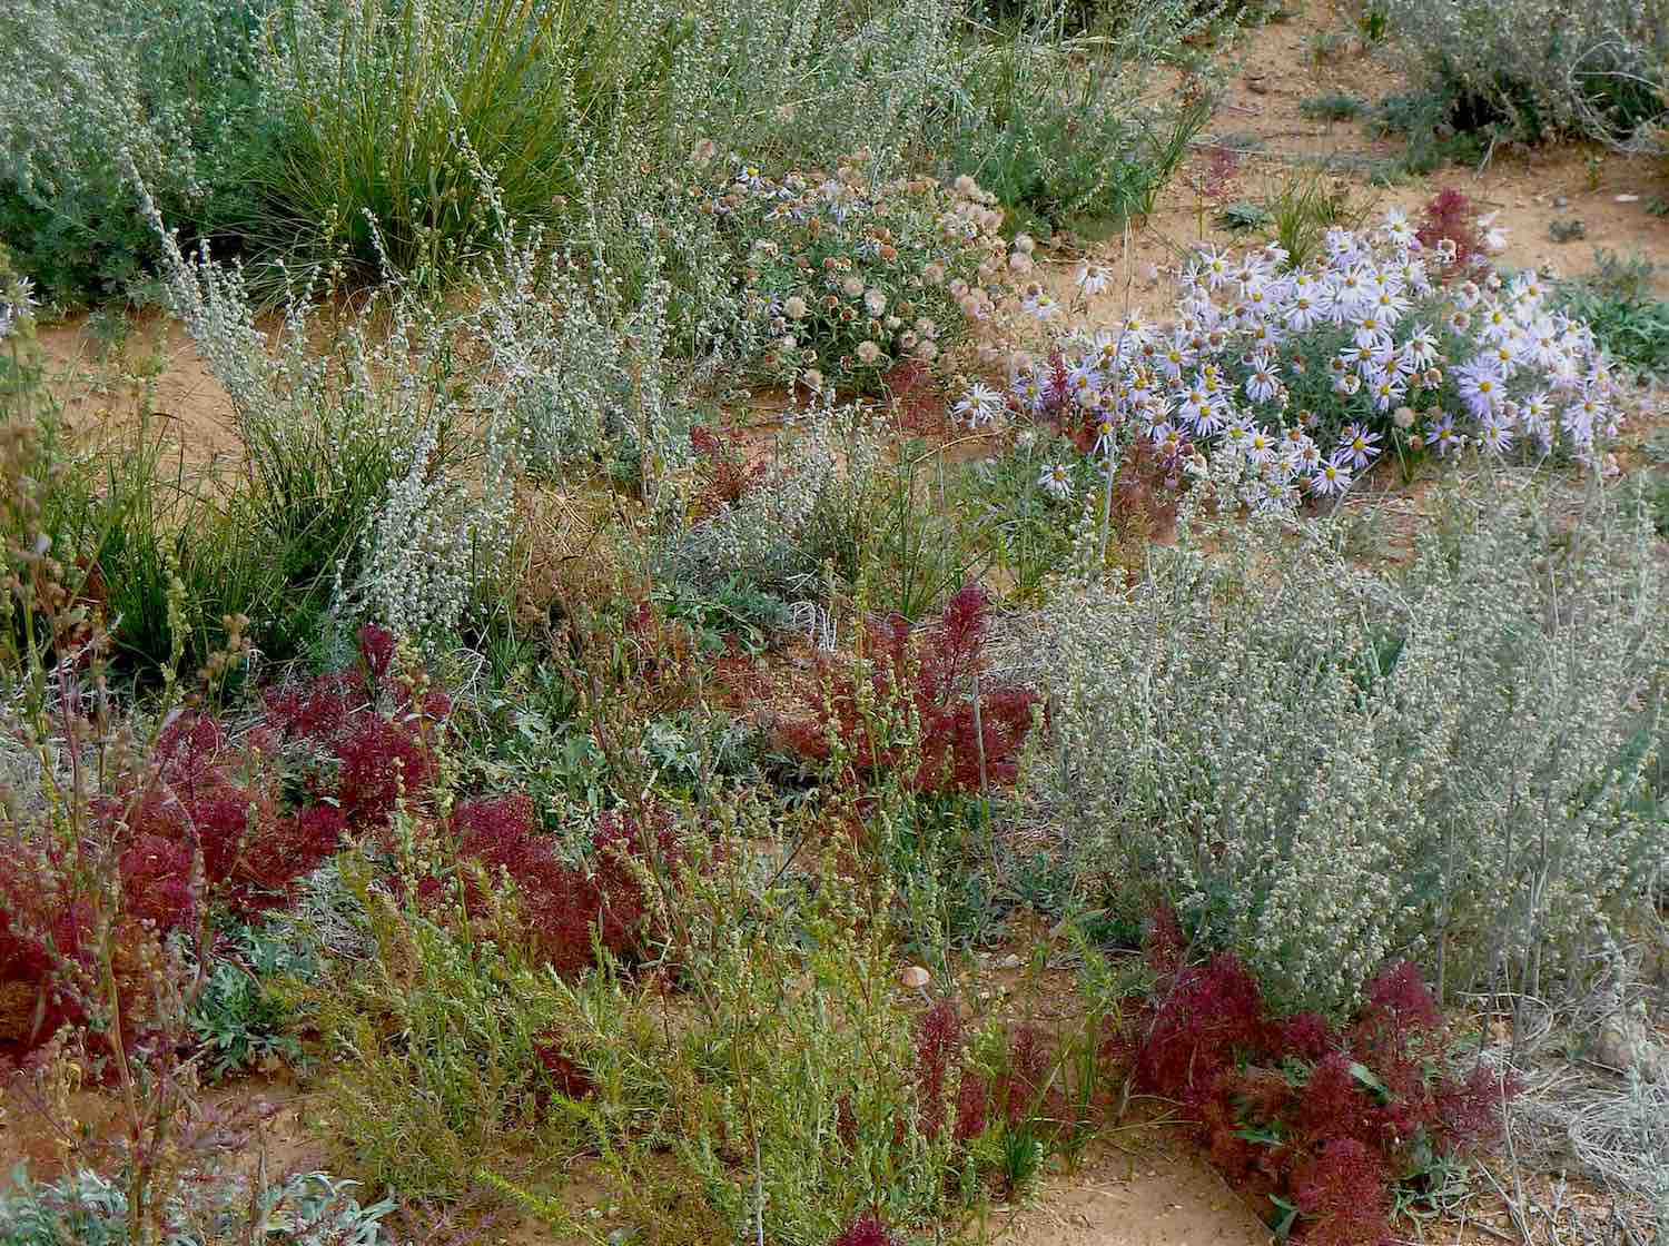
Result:
{"label": "lavender daisy-like aster clump in full bloom with yellow centres", "polygon": [[1422,244],[1390,212],[1372,234],[1330,230],[1307,265],[1273,245],[1208,247],[1182,274],[1173,322],[1073,334],[1006,392],[973,385],[956,414],[1051,420],[1097,457],[1133,437],[1175,464],[1235,454],[1257,509],[1337,495],[1387,449],[1597,465],[1622,410],[1592,332],[1534,274],[1444,287],[1454,245]]}

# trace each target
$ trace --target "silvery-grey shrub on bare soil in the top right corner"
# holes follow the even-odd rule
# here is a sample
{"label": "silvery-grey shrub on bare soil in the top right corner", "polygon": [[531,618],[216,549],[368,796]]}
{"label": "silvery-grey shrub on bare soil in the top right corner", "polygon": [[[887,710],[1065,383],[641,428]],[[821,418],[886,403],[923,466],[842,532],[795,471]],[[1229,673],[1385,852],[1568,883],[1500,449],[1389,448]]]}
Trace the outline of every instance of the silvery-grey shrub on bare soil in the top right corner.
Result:
{"label": "silvery-grey shrub on bare soil in the top right corner", "polygon": [[1415,77],[1470,90],[1540,128],[1617,145],[1636,133],[1607,95],[1664,85],[1669,5],[1662,0],[1384,0],[1385,30]]}

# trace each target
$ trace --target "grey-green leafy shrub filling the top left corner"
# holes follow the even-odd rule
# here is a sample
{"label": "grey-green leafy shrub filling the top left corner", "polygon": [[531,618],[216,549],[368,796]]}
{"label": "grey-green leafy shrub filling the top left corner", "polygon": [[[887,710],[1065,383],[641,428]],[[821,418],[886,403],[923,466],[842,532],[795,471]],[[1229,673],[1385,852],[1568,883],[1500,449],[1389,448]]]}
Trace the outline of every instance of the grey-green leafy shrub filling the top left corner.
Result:
{"label": "grey-green leafy shrub filling the top left corner", "polygon": [[235,217],[265,0],[17,0],[0,12],[0,237],[58,304],[157,254],[124,168],[194,230]]}

